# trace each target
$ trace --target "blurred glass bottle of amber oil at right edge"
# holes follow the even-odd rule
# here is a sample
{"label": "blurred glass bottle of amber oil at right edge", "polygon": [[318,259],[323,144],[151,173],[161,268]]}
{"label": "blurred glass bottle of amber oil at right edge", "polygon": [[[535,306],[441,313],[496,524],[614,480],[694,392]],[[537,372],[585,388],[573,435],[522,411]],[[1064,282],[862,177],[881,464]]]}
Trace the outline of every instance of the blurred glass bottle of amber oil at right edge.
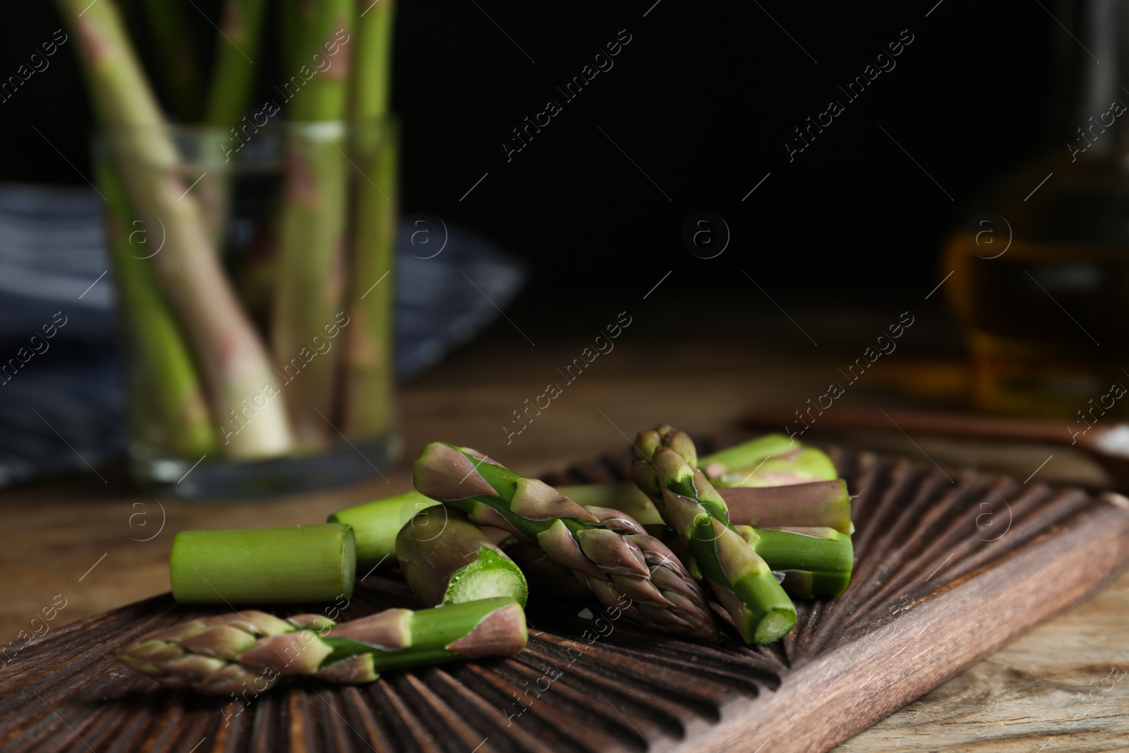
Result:
{"label": "blurred glass bottle of amber oil at right edge", "polygon": [[1079,42],[1060,51],[1049,154],[969,208],[942,274],[974,406],[1074,420],[1129,385],[1129,2],[1070,3],[1064,20]]}

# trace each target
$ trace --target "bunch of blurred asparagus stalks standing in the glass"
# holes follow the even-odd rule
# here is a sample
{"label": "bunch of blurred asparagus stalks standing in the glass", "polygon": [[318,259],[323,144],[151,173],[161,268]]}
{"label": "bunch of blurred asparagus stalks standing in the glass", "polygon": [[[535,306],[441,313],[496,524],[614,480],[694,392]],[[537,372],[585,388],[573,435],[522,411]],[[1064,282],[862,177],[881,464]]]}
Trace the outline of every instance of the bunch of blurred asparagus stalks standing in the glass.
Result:
{"label": "bunch of blurred asparagus stalks standing in the glass", "polygon": [[[253,461],[322,450],[338,428],[390,430],[394,286],[376,283],[395,242],[393,2],[224,0],[208,71],[194,3],[56,0],[102,137],[139,446]],[[231,167],[270,129],[285,133],[285,176],[248,243],[229,221]]]}

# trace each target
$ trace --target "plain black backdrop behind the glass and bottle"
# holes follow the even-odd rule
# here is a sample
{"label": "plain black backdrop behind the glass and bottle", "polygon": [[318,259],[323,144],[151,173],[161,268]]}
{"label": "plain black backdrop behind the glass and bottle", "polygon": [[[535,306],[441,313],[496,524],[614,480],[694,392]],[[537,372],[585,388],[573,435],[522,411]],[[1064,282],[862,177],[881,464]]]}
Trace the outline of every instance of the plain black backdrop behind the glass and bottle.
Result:
{"label": "plain black backdrop behind the glass and bottle", "polygon": [[[218,6],[194,2],[212,14]],[[940,279],[945,230],[983,209],[975,192],[1043,145],[1051,47],[1069,43],[1039,3],[935,3],[403,0],[394,84],[402,209],[469,226],[523,256],[533,279],[518,310],[616,291],[633,298],[672,269],[656,296],[699,308],[747,300],[771,309],[742,270],[784,308],[896,305],[907,291],[920,300]],[[196,33],[213,37],[190,12]],[[49,2],[8,8],[0,76],[59,26]],[[554,86],[620,29],[632,40],[614,68],[564,103]],[[848,104],[837,86],[902,29],[913,42],[896,68]],[[64,45],[0,104],[0,180],[90,174],[76,50]],[[256,63],[264,78],[281,78],[269,58]],[[846,112],[789,164],[785,139],[832,97]],[[563,112],[507,164],[501,140],[548,98]],[[680,237],[701,210],[724,217],[733,235],[709,261]]]}

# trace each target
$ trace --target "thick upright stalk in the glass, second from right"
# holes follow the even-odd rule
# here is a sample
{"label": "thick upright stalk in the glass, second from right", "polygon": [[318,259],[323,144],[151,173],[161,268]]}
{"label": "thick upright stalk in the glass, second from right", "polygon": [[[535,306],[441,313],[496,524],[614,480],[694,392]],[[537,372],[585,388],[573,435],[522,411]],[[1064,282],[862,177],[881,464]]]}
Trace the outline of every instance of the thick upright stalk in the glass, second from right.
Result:
{"label": "thick upright stalk in the glass, second from right", "polygon": [[[300,28],[295,54],[304,62],[291,79],[299,88],[290,102],[271,347],[275,368],[288,380],[287,405],[299,446],[316,450],[336,437],[330,420],[338,354],[314,358],[312,341],[324,340],[323,329],[341,322],[338,315],[344,312],[349,146],[342,119],[350,53],[339,40],[352,28],[352,3],[290,1],[297,3],[292,12]],[[338,45],[338,54],[326,58],[326,45]],[[315,59],[329,64],[315,70]],[[312,71],[308,80],[301,70]]]}

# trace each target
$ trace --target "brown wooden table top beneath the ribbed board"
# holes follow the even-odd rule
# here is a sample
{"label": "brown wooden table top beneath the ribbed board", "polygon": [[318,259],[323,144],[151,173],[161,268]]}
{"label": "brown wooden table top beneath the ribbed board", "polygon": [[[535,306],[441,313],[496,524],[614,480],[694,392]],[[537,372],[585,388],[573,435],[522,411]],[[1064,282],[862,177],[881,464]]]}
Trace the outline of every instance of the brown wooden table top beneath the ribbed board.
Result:
{"label": "brown wooden table top beneath the ribbed board", "polygon": [[[511,339],[516,334],[509,332]],[[498,338],[495,338],[498,340]],[[411,456],[430,439],[489,452],[536,474],[624,446],[659,420],[708,434],[734,427],[754,405],[800,408],[826,388],[850,358],[823,351],[772,354],[745,341],[686,342],[679,368],[656,368],[655,347],[628,342],[598,358],[507,445],[504,424],[524,401],[560,382],[558,367],[580,345],[483,343],[464,350],[401,394],[402,434]],[[516,340],[515,340],[516,342]],[[520,343],[523,347],[526,344]],[[816,351],[816,349],[812,349]],[[669,352],[669,351],[668,351]],[[957,358],[903,352],[875,365],[841,399],[852,405],[937,404],[963,388]],[[833,409],[832,409],[833,410]],[[805,439],[831,439],[814,427]],[[1004,471],[1102,488],[1109,480],[1069,449],[949,443],[901,435],[833,437],[843,446],[928,458],[947,467]],[[916,444],[914,444],[916,443]],[[341,507],[410,488],[410,464],[343,490],[253,504],[156,499],[133,488],[123,466],[99,469],[0,492],[0,643],[41,632],[33,618],[64,603],[47,628],[168,590],[168,548],[186,528],[320,522]],[[1048,573],[1048,588],[1054,588]],[[1129,747],[1129,575],[1082,601],[1006,649],[876,724],[838,750],[1113,751]]]}

